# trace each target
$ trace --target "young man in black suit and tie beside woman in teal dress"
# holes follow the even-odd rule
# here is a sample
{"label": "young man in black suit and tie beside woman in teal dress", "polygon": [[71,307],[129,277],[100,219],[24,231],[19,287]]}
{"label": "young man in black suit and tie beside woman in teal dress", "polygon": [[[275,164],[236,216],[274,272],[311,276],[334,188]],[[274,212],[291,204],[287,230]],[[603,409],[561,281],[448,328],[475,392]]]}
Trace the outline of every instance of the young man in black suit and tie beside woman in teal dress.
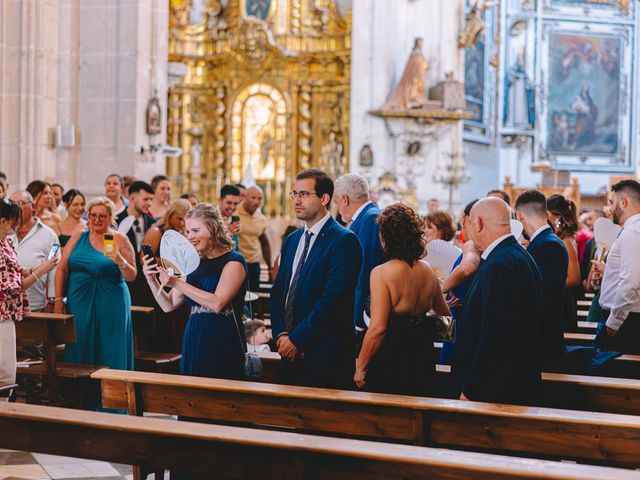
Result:
{"label": "young man in black suit and tie beside woman in teal dress", "polygon": [[154,300],[150,298],[149,288],[140,263],[142,239],[144,234],[155,223],[155,219],[147,213],[153,202],[153,193],[153,187],[147,182],[141,180],[133,182],[129,187],[129,206],[116,216],[118,226],[125,218],[133,217],[133,223],[129,230],[122,232],[129,238],[136,253],[138,275],[133,282],[127,282],[132,305],[155,305]]}

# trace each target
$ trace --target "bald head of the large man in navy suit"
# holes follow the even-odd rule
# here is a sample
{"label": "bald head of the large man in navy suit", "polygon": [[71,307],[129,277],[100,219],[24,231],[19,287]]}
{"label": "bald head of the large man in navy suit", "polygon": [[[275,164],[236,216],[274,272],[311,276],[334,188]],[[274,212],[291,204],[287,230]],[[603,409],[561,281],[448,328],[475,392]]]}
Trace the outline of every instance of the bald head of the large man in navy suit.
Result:
{"label": "bald head of the large man in navy suit", "polygon": [[511,209],[500,198],[479,200],[471,209],[471,239],[481,250],[494,240],[511,233]]}

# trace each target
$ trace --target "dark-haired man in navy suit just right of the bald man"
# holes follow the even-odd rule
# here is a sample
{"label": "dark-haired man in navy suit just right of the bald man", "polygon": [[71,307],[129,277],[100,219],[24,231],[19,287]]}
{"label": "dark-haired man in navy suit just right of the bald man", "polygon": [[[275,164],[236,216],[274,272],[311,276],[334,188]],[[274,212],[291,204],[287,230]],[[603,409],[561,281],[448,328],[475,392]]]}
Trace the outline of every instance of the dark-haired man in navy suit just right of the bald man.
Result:
{"label": "dark-haired man in navy suit just right of the bald man", "polygon": [[545,371],[560,371],[565,355],[562,319],[569,255],[562,240],[547,223],[547,199],[544,194],[537,190],[520,194],[515,210],[524,227],[524,237],[529,240],[527,252],[535,260],[542,277],[542,368]]}

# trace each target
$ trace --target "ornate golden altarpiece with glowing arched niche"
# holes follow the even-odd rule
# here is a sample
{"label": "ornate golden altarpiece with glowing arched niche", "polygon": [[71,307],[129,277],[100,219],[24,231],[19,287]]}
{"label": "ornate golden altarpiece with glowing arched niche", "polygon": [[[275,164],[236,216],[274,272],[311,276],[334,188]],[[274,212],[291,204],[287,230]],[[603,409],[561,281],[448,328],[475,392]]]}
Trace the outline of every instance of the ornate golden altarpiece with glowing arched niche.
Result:
{"label": "ornate golden altarpiece with glowing arched niche", "polygon": [[171,0],[167,159],[181,192],[214,200],[255,180],[288,215],[296,173],[348,171],[351,13],[333,0]]}

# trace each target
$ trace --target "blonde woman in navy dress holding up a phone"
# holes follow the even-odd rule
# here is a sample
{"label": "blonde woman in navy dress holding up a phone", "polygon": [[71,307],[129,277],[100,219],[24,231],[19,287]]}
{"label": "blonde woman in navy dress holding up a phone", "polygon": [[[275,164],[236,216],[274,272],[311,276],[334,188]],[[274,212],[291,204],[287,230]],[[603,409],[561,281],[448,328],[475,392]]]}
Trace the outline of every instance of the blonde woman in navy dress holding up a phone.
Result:
{"label": "blonde woman in navy dress holding up a phone", "polygon": [[[217,207],[197,204],[186,215],[187,238],[200,265],[187,278],[170,276],[154,259],[144,258],[144,273],[160,307],[169,312],[185,301],[191,307],[182,342],[180,373],[241,379],[246,344],[242,309],[247,265]],[[167,293],[164,286],[172,289]]]}

